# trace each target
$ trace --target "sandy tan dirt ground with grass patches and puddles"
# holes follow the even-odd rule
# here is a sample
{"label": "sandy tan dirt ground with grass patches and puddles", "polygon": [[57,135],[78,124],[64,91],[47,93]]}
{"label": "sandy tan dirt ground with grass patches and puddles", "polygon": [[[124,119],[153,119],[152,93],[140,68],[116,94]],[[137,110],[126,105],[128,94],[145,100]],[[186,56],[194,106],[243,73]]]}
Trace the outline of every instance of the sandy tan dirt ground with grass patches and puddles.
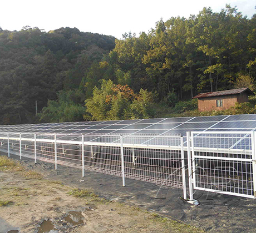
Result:
{"label": "sandy tan dirt ground with grass patches and puddles", "polygon": [[[155,213],[50,181],[0,158],[0,232],[198,232]],[[25,162],[26,163],[26,162]],[[41,164],[42,168],[46,164]],[[39,166],[39,165],[37,165]],[[77,217],[77,219],[76,219]],[[79,217],[79,219],[78,219]],[[75,219],[74,219],[75,218]],[[18,230],[18,231],[11,231]]]}

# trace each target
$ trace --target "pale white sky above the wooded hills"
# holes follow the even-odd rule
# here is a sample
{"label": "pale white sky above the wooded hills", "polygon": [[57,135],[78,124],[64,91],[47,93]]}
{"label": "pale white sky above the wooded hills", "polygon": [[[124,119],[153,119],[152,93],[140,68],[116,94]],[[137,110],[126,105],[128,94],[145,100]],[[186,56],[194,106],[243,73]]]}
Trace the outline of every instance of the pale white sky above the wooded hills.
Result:
{"label": "pale white sky above the wooded hills", "polygon": [[203,7],[219,12],[228,3],[237,6],[243,16],[256,13],[256,0],[2,0],[0,27],[19,31],[24,26],[38,27],[46,32],[61,27],[76,27],[81,32],[93,32],[122,38],[125,32],[148,32],[163,18],[198,14]]}

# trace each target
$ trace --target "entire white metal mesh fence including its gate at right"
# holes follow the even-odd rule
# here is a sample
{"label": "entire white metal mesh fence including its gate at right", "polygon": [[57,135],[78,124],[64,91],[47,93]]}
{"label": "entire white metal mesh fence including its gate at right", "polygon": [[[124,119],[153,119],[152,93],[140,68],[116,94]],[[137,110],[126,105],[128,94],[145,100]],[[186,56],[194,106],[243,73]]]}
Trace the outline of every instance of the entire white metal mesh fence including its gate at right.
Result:
{"label": "entire white metal mesh fence including its gate at right", "polygon": [[[184,140],[184,141],[183,141]],[[256,132],[167,134],[0,133],[0,151],[182,189],[255,198]],[[186,153],[184,153],[184,150]],[[187,156],[184,156],[187,155]],[[188,183],[188,185],[186,185]],[[187,187],[186,187],[187,186]]]}

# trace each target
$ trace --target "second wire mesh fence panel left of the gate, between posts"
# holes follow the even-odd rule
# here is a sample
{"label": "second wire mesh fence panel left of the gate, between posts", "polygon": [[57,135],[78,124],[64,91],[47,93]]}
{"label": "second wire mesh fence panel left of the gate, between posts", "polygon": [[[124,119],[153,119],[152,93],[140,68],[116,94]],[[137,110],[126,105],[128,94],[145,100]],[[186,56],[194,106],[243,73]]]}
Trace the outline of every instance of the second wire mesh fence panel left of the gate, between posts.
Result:
{"label": "second wire mesh fence panel left of the gate, between posts", "polygon": [[110,175],[121,176],[121,150],[119,146],[85,145],[84,167]]}

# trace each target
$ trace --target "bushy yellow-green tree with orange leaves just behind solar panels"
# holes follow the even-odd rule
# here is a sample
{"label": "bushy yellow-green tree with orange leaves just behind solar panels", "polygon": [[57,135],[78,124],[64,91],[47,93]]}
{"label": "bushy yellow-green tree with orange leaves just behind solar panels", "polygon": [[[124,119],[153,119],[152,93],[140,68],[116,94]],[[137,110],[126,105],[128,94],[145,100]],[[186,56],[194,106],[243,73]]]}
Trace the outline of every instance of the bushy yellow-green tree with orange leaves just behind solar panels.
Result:
{"label": "bushy yellow-green tree with orange leaves just behind solar panels", "polygon": [[152,105],[154,94],[141,89],[138,94],[128,85],[114,84],[102,80],[101,88],[93,90],[93,96],[86,100],[85,119],[119,120],[139,119],[154,116]]}

